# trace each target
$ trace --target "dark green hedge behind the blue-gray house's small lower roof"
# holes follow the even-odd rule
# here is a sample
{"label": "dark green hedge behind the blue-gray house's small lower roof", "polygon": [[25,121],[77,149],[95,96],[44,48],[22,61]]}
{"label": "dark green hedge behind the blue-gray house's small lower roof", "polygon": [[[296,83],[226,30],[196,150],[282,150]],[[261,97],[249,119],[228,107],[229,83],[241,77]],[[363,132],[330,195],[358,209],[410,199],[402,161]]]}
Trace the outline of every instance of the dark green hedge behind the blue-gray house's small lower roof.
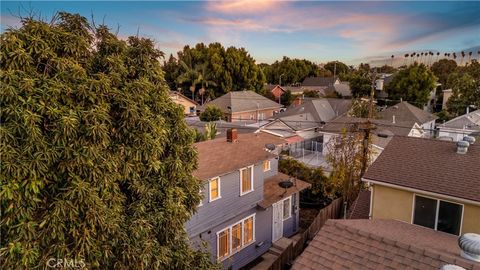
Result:
{"label": "dark green hedge behind the blue-gray house's small lower roof", "polygon": [[324,175],[322,168],[318,167],[313,169],[295,159],[283,158],[278,164],[278,170],[284,174],[310,183],[312,185],[312,193],[324,197],[323,185],[327,177]]}

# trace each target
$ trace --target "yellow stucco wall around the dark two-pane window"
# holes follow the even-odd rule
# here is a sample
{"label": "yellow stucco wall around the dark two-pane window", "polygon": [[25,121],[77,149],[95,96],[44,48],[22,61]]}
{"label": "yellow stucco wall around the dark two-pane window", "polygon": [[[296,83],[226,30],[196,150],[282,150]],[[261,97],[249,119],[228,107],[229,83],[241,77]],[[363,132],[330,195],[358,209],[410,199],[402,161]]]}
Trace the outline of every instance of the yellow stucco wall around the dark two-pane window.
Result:
{"label": "yellow stucco wall around the dark two-pane window", "polygon": [[397,219],[408,223],[412,222],[412,209],[414,195],[426,196],[430,198],[443,199],[449,202],[463,205],[463,222],[461,233],[474,232],[480,233],[480,206],[465,204],[452,199],[436,197],[413,193],[390,187],[373,185],[372,196],[372,218],[377,219]]}

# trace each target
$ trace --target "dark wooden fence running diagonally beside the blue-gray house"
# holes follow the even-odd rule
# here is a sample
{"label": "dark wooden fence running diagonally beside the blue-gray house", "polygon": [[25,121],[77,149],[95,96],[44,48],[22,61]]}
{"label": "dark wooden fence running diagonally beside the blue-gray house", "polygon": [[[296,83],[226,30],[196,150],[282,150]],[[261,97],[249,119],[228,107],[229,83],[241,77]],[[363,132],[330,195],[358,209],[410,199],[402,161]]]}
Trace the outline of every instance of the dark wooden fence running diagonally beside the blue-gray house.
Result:
{"label": "dark wooden fence running diagonally beside the blue-gray house", "polygon": [[340,217],[340,214],[342,213],[342,202],[342,198],[338,198],[327,207],[320,210],[308,229],[301,233],[298,241],[290,244],[272,263],[269,269],[283,270],[287,264],[292,263],[295,258],[303,252],[307,241],[310,241],[313,239],[313,237],[315,237],[317,232],[323,227],[328,219],[336,219]]}

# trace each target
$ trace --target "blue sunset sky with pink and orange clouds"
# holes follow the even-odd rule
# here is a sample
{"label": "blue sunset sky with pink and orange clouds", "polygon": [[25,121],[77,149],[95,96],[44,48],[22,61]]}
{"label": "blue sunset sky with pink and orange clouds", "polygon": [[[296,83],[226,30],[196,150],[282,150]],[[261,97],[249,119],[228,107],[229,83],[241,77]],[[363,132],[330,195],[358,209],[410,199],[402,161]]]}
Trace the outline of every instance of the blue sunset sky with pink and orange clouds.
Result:
{"label": "blue sunset sky with pink and orange clouds", "polygon": [[288,56],[395,65],[405,53],[480,50],[480,1],[2,1],[1,31],[19,27],[18,15],[57,11],[93,16],[121,38],[138,32],[167,55],[220,42],[244,47],[257,63]]}

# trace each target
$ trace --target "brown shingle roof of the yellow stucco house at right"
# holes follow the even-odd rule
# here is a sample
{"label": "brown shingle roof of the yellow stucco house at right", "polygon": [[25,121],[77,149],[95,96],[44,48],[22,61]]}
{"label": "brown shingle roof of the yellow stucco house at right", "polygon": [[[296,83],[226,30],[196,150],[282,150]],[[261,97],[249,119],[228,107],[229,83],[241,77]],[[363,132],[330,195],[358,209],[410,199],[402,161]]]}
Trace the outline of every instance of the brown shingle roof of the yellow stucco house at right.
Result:
{"label": "brown shingle roof of the yellow stucco house at right", "polygon": [[367,170],[378,181],[480,202],[480,145],[465,155],[454,142],[395,136]]}

